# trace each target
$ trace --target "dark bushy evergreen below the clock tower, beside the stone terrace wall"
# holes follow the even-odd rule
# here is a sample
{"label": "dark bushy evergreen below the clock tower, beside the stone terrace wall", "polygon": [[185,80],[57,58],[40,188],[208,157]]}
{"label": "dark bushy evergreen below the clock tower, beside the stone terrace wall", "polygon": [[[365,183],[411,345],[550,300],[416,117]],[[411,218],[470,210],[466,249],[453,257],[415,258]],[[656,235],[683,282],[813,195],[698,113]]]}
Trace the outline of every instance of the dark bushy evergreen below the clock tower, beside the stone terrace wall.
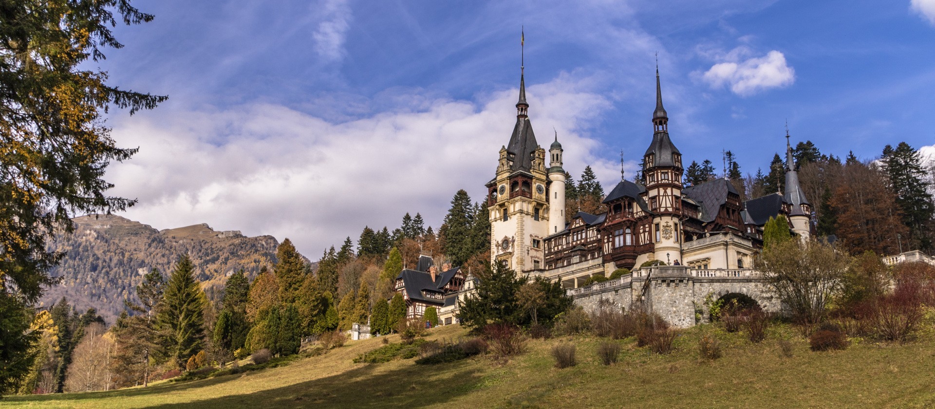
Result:
{"label": "dark bushy evergreen below the clock tower, beside the stone terrace wall", "polygon": [[516,272],[502,263],[487,263],[484,279],[477,285],[477,292],[464,302],[458,300],[462,325],[481,331],[488,322],[513,322],[519,315],[525,315],[516,302],[516,293],[525,283],[517,278]]}

